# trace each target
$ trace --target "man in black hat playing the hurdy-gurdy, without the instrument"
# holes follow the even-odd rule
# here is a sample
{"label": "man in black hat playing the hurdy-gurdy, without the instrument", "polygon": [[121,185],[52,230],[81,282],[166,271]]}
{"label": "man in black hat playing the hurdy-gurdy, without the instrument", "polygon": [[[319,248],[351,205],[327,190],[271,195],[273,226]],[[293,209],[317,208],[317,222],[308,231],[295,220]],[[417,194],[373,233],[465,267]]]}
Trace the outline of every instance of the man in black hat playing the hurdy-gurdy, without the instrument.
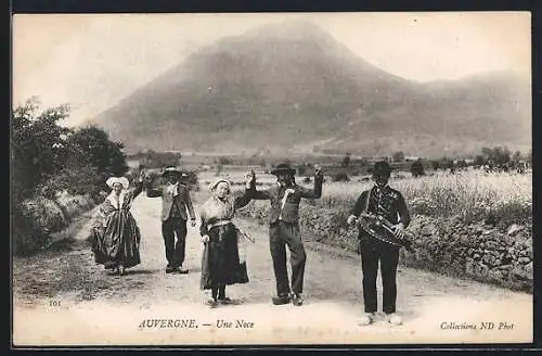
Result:
{"label": "man in black hat playing the hurdy-gurdy, without the instrument", "polygon": [[[373,180],[375,185],[370,190],[361,193],[348,224],[356,223],[361,213],[373,213],[380,215],[395,224],[395,234],[403,238],[404,228],[410,224],[410,214],[402,194],[390,188],[388,181],[391,167],[385,161],[376,162],[373,168]],[[397,265],[399,262],[399,247],[379,240],[360,230],[361,269],[363,272],[363,303],[365,313],[360,325],[373,322],[377,309],[376,276],[378,260],[380,262],[380,275],[383,279],[383,312],[391,325],[401,325],[402,319],[396,313],[397,300]]]}

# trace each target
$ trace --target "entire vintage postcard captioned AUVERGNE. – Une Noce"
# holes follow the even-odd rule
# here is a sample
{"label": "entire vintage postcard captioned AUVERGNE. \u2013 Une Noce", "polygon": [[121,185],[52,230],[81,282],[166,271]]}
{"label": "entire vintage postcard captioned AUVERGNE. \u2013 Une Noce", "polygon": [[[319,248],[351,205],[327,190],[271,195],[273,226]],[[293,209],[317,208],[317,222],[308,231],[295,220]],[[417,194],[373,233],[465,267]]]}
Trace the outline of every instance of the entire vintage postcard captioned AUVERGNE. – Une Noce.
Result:
{"label": "entire vintage postcard captioned AUVERGNE. \u2013 Une Noce", "polygon": [[531,14],[12,17],[14,346],[531,343]]}

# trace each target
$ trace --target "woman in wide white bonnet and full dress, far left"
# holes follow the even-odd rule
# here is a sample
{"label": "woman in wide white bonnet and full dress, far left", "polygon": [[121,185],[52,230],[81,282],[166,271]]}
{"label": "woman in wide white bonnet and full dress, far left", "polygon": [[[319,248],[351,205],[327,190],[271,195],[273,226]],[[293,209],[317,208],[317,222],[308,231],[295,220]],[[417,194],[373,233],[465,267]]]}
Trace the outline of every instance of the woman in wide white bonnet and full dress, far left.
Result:
{"label": "woman in wide white bonnet and full dress, far left", "polygon": [[141,234],[130,208],[142,183],[130,188],[126,177],[111,177],[106,183],[112,191],[99,208],[102,221],[94,225],[92,251],[94,260],[105,269],[125,275],[126,268],[141,263]]}

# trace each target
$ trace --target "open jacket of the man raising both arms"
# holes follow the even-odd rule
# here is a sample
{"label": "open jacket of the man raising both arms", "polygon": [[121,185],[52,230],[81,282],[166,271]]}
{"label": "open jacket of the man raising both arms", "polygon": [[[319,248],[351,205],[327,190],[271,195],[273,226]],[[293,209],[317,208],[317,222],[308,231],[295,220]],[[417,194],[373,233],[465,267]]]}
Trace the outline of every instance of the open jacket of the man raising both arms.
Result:
{"label": "open jacket of the man raising both arms", "polygon": [[[273,225],[279,220],[288,224],[299,221],[299,203],[302,198],[319,199],[322,196],[323,176],[314,177],[314,188],[312,190],[295,185],[286,188],[276,185],[268,190],[253,190],[251,198],[255,200],[269,200],[271,211],[269,224]],[[286,199],[284,200],[284,196]],[[284,200],[284,201],[283,201]]]}

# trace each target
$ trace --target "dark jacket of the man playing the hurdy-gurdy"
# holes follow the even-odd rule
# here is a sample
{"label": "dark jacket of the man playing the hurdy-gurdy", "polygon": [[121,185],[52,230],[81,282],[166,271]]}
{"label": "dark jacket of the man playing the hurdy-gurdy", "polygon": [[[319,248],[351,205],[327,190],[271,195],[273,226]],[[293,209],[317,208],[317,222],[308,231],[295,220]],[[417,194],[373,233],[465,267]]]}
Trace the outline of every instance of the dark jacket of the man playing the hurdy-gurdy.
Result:
{"label": "dark jacket of the man playing the hurdy-gurdy", "polygon": [[362,212],[380,215],[392,224],[410,225],[411,218],[403,195],[388,185],[378,188],[376,185],[361,193],[351,212],[360,216]]}

